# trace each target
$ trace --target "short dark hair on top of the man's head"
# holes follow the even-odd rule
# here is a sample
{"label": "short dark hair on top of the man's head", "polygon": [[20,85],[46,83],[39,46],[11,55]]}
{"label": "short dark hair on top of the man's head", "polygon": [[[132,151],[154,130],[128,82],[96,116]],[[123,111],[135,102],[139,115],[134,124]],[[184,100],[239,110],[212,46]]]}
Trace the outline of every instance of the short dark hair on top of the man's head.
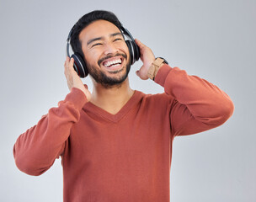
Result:
{"label": "short dark hair on top of the man's head", "polygon": [[[122,24],[120,23],[119,19],[115,16],[114,13],[105,11],[105,10],[94,10],[90,13],[83,15],[81,19],[77,21],[77,24],[74,25],[72,28],[72,35],[70,40],[70,45],[72,46],[72,50],[77,52],[80,56],[83,56],[82,44],[79,40],[80,32],[87,27],[89,24],[93,23],[96,20],[104,19],[109,21],[112,24],[120,29]],[[84,59],[84,56],[83,56]]]}

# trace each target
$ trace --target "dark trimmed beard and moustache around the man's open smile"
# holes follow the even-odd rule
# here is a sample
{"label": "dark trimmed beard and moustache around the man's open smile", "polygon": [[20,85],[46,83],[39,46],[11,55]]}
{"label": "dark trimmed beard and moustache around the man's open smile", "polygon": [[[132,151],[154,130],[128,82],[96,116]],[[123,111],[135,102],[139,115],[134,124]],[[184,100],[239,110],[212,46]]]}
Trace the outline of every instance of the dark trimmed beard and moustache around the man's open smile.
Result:
{"label": "dark trimmed beard and moustache around the man's open smile", "polygon": [[[127,60],[127,56],[125,54],[116,54],[115,56],[123,56]],[[102,61],[109,59],[110,57],[114,57],[114,56],[106,56],[104,58],[99,59],[98,65],[100,66],[100,63]],[[97,68],[97,66],[92,66],[92,65],[89,65],[88,63],[87,63],[87,67],[88,67],[89,75],[93,77],[95,82],[98,82],[99,84],[104,86],[104,88],[113,88],[113,87],[120,86],[121,83],[124,82],[125,79],[128,77],[128,74],[131,69],[131,61],[129,61],[126,64],[126,66],[123,66],[123,68],[121,68],[120,70],[109,72],[109,74],[115,76],[116,74],[123,72],[125,70],[125,72],[121,74],[120,77],[109,77],[106,75],[104,71]]]}

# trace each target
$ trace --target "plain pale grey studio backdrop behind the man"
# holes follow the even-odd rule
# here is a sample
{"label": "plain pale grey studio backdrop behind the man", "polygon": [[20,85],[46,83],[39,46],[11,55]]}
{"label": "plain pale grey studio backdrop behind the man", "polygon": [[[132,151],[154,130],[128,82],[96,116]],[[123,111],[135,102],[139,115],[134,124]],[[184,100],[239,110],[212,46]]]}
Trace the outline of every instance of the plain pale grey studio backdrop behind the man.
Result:
{"label": "plain pale grey studio backdrop behind the man", "polygon": [[[18,136],[68,93],[67,34],[93,9],[116,13],[137,39],[170,66],[227,92],[235,112],[225,125],[173,142],[171,201],[256,201],[255,0],[0,0],[0,201],[61,201],[61,160],[40,177],[13,161]],[[132,66],[131,87],[161,93]],[[83,80],[92,89],[89,78]]]}

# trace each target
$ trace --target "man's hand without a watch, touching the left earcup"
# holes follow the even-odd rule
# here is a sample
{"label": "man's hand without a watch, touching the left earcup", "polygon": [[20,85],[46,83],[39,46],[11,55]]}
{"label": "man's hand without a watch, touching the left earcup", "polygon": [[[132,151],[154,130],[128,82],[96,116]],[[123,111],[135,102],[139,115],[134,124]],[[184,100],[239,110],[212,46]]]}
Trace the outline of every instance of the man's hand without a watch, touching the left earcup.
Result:
{"label": "man's hand without a watch, touching the left earcup", "polygon": [[87,85],[83,85],[83,82],[81,78],[77,75],[77,72],[74,70],[73,65],[74,65],[74,59],[73,58],[70,59],[67,56],[67,59],[64,63],[64,67],[65,67],[64,73],[67,78],[67,86],[69,90],[71,90],[71,88],[78,88],[82,90],[86,98],[88,99],[88,101],[90,101],[92,95],[88,91]]}

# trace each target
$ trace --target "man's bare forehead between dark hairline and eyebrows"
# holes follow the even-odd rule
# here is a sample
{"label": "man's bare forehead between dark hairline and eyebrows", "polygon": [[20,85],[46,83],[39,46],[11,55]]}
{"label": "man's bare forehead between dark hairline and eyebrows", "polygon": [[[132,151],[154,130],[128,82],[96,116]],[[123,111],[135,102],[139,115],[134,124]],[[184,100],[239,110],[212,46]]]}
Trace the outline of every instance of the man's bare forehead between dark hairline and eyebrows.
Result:
{"label": "man's bare forehead between dark hairline and eyebrows", "polygon": [[88,40],[99,37],[108,37],[109,35],[117,32],[120,32],[120,29],[118,29],[115,24],[103,19],[99,19],[89,24],[81,31],[79,34],[79,40],[86,43]]}

